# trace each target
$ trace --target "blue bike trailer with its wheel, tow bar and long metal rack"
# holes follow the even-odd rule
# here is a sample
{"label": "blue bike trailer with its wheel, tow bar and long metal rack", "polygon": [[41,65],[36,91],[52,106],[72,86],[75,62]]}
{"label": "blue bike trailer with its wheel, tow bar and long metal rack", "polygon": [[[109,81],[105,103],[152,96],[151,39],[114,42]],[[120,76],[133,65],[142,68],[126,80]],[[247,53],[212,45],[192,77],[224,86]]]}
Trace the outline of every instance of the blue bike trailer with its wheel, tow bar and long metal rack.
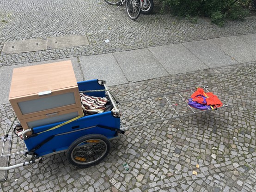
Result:
{"label": "blue bike trailer with its wheel, tow bar and long metal rack", "polygon": [[[103,80],[78,82],[78,87],[79,92],[89,96],[109,96],[113,109],[100,114],[78,116],[71,120],[25,130],[22,134],[25,147],[16,149],[14,153],[10,153],[10,151],[6,154],[5,152],[1,153],[1,156],[4,157],[25,152],[25,162],[0,168],[0,170],[9,170],[40,162],[46,156],[60,152],[66,152],[67,160],[74,166],[90,167],[108,155],[110,140],[117,138],[119,133],[124,133],[129,128],[202,112],[217,111],[217,108],[200,110],[189,106],[188,99],[197,88],[119,103],[114,102],[114,97],[111,96]],[[202,88],[209,92],[207,86]],[[222,103],[223,105],[218,109],[228,106],[226,100],[222,100]],[[8,124],[8,126],[10,125]],[[32,132],[32,135],[26,137],[27,132]],[[4,143],[11,144],[12,140],[16,139],[14,137],[12,135],[7,136]],[[20,138],[18,139],[20,140]]]}

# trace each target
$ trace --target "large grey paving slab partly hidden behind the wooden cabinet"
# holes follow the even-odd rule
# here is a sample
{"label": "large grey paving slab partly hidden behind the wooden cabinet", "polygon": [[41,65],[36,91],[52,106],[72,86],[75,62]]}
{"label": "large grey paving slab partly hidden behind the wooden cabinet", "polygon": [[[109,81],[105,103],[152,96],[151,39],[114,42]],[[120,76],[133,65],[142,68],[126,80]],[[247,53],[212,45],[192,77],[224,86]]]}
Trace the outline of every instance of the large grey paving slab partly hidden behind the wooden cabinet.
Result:
{"label": "large grey paving slab partly hidden behind the wooden cabinet", "polygon": [[54,62],[59,62],[63,60],[71,60],[77,81],[83,81],[84,78],[76,57],[66,58],[61,60],[49,60],[49,61],[28,63],[28,64],[22,64],[22,65],[16,65],[16,66],[0,67],[0,87],[1,87],[0,104],[9,103],[8,97],[9,97],[9,91],[10,91],[10,86],[12,81],[12,71],[14,68],[23,67],[23,66],[41,65],[46,63],[54,63]]}

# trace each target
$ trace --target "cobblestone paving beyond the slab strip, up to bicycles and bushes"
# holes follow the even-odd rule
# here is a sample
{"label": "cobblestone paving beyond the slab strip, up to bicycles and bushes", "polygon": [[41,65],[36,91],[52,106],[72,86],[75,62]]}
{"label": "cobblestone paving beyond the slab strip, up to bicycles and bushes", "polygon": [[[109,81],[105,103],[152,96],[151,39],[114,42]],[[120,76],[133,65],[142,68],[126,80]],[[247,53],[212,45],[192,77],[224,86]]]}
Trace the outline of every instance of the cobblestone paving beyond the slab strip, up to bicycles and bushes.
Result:
{"label": "cobblestone paving beyond the slab strip, up to bicycles and bushes", "polygon": [[[113,12],[104,0],[1,0],[0,50],[4,42],[32,38],[85,35],[90,45],[43,51],[1,54],[0,66],[104,54],[192,40],[256,32],[256,18],[227,21],[218,27],[209,19],[193,24],[186,19],[160,14],[155,1],[153,14],[128,18],[124,6]],[[110,40],[109,43],[104,40]]]}

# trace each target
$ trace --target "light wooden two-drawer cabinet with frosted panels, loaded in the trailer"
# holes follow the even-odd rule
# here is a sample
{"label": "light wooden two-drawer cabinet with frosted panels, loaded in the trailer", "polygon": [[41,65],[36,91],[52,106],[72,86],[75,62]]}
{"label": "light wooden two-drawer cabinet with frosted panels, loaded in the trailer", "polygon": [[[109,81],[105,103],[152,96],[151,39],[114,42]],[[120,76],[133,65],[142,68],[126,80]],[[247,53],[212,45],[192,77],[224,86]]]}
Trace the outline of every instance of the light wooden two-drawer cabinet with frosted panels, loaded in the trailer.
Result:
{"label": "light wooden two-drawer cabinet with frosted panels, loaded in the trailer", "polygon": [[15,68],[9,101],[24,129],[83,114],[70,60]]}

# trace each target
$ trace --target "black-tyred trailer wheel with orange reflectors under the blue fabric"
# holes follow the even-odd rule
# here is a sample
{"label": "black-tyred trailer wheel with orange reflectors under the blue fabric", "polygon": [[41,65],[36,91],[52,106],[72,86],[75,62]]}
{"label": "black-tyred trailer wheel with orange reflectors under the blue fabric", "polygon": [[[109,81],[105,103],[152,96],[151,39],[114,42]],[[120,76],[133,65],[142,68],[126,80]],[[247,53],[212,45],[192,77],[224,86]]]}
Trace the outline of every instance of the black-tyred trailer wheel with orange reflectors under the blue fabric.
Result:
{"label": "black-tyred trailer wheel with orange reflectors under the blue fabric", "polygon": [[76,139],[67,149],[67,160],[77,167],[90,167],[110,152],[110,141],[104,135],[91,134]]}

